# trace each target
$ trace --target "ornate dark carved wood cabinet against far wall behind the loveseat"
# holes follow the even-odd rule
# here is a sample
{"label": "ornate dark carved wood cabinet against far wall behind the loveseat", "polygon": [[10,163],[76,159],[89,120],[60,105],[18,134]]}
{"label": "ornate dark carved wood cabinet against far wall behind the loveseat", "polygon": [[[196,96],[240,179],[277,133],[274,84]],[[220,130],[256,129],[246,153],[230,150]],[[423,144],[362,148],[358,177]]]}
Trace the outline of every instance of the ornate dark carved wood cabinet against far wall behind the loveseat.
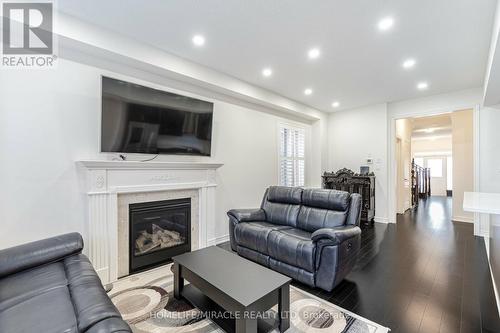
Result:
{"label": "ornate dark carved wood cabinet against far wall behind the loveseat", "polygon": [[337,172],[323,174],[323,188],[359,193],[363,198],[361,220],[373,222],[375,217],[375,175],[354,173],[350,169],[340,169]]}

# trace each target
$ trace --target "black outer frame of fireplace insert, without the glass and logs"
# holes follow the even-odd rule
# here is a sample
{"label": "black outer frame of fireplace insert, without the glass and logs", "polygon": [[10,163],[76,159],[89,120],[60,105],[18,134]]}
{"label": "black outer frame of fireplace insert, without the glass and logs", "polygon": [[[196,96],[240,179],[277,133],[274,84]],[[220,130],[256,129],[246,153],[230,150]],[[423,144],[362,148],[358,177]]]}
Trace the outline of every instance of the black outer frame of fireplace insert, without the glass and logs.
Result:
{"label": "black outer frame of fireplace insert, without the glass and logs", "polygon": [[[133,237],[133,214],[136,212],[144,212],[152,209],[178,209],[178,208],[189,208],[187,209],[187,235],[186,243],[165,248],[158,251],[153,251],[151,253],[135,255],[135,239]],[[176,255],[183,254],[186,252],[191,252],[191,198],[173,199],[173,200],[161,200],[161,201],[150,201],[150,202],[140,202],[129,205],[129,274],[134,274],[142,272],[151,268],[162,266],[172,262],[172,257]],[[165,254],[169,255],[165,258]],[[148,264],[151,259],[156,259],[157,263]]]}

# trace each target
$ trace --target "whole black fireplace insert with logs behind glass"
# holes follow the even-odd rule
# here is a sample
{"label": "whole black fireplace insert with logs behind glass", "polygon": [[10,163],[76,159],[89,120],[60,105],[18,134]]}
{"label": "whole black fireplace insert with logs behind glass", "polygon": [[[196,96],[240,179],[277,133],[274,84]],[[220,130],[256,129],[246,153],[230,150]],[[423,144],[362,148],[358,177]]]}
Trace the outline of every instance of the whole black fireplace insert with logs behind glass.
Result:
{"label": "whole black fireplace insert with logs behind glass", "polygon": [[130,273],[191,251],[191,198],[129,205]]}

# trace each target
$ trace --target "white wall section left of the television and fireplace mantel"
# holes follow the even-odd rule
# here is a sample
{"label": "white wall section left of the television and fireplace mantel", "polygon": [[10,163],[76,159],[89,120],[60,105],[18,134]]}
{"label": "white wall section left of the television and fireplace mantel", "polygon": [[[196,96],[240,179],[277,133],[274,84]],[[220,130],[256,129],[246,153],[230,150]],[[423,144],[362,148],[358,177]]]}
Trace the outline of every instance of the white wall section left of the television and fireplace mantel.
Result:
{"label": "white wall section left of the television and fireplace mantel", "polygon": [[98,147],[96,84],[95,70],[74,64],[2,71],[0,248],[83,231],[74,161],[94,156]]}

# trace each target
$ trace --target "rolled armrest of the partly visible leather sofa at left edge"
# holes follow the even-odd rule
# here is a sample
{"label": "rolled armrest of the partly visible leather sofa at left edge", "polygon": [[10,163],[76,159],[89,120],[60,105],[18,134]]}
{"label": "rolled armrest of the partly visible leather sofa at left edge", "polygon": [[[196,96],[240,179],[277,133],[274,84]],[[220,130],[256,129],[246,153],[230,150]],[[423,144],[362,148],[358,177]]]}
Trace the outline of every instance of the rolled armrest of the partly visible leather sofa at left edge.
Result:
{"label": "rolled armrest of the partly visible leather sofa at left edge", "polygon": [[0,250],[0,278],[80,253],[83,239],[69,233]]}

